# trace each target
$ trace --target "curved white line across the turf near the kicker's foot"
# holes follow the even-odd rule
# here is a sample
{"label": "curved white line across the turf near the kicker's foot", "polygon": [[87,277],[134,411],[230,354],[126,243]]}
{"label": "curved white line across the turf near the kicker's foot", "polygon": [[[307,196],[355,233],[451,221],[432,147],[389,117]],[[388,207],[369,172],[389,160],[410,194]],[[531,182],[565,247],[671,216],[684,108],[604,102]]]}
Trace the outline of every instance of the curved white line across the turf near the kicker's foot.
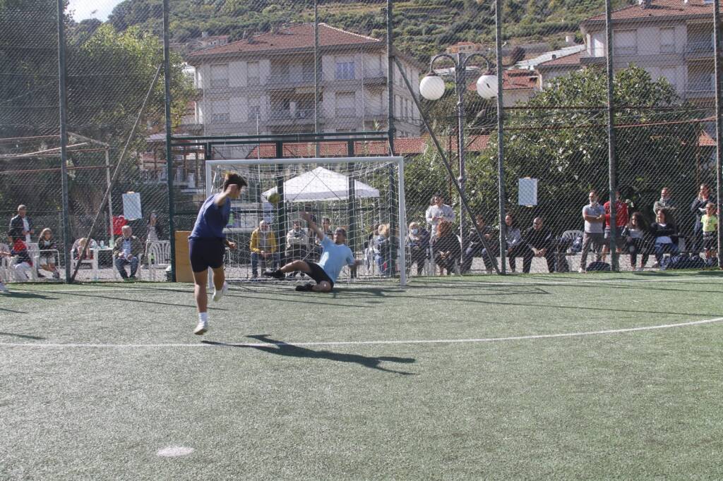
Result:
{"label": "curved white line across the turf near the kicker's foot", "polygon": [[414,344],[471,344],[479,342],[525,341],[529,339],[554,339],[557,337],[583,337],[600,334],[621,334],[625,332],[653,331],[655,329],[672,329],[674,327],[700,326],[701,324],[714,324],[723,321],[723,317],[703,319],[702,321],[688,321],[677,324],[658,324],[656,326],[628,327],[624,329],[605,329],[602,331],[563,332],[560,334],[531,334],[528,336],[510,337],[480,337],[472,339],[411,339],[411,340],[380,340],[380,341],[329,341],[329,342],[239,342],[218,344],[33,344],[30,342],[0,342],[0,347],[30,347],[30,348],[67,348],[67,347],[111,347],[111,348],[140,348],[140,347],[269,347],[269,346],[361,346],[361,345],[414,345]]}

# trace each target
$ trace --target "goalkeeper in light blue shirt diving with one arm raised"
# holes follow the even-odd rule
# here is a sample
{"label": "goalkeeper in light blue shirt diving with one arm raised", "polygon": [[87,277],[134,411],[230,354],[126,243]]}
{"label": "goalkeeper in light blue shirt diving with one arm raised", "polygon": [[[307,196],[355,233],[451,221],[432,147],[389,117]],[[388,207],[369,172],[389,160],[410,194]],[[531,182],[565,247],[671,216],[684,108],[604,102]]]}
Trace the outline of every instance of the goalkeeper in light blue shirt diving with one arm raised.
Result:
{"label": "goalkeeper in light blue shirt diving with one arm raised", "polygon": [[347,265],[349,267],[361,265],[361,261],[354,259],[351,249],[346,245],[346,230],[337,228],[334,231],[334,240],[328,238],[324,231],[316,225],[312,220],[309,212],[302,212],[301,218],[307,221],[309,229],[313,230],[321,241],[323,252],[318,264],[307,261],[293,261],[286,264],[281,269],[275,271],[264,272],[265,276],[275,277],[276,279],[284,279],[286,274],[291,272],[304,272],[317,283],[313,285],[311,282],[305,285],[296,286],[296,290],[313,291],[315,293],[328,293],[334,287],[336,278],[339,277],[341,269]]}

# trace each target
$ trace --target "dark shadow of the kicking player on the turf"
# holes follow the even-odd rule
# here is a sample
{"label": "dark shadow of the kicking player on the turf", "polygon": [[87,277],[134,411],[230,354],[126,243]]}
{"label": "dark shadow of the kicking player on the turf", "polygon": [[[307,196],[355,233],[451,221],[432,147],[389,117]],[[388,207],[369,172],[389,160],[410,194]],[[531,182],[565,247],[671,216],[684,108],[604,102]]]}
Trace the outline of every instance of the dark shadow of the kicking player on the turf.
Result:
{"label": "dark shadow of the kicking player on the turf", "polygon": [[385,371],[387,373],[401,374],[403,376],[411,376],[414,373],[408,373],[406,371],[395,371],[394,369],[382,368],[380,365],[382,361],[389,363],[414,363],[412,358],[394,358],[390,356],[379,356],[372,358],[368,356],[362,356],[359,354],[343,354],[341,352],[331,352],[326,350],[315,351],[307,347],[296,346],[293,344],[286,344],[283,341],[276,341],[270,339],[268,334],[257,334],[254,336],[248,336],[252,339],[258,339],[262,342],[268,342],[268,346],[260,345],[249,345],[249,344],[227,344],[226,342],[213,342],[213,341],[202,341],[204,344],[227,346],[227,347],[252,347],[253,349],[268,352],[270,354],[290,356],[291,358],[313,358],[313,359],[328,359],[338,361],[340,363],[356,363],[363,365],[365,368],[376,369],[377,371]]}

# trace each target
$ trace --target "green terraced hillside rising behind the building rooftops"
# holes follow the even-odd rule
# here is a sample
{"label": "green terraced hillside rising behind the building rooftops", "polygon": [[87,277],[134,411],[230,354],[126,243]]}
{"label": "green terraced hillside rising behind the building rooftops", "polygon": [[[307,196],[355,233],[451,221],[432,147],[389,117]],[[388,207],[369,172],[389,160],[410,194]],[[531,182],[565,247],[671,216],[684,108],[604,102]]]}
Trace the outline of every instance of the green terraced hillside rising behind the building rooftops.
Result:
{"label": "green terraced hillside rising behind the building rooftops", "polygon": [[[623,6],[633,0],[617,0]],[[385,36],[385,0],[319,1],[322,22],[375,38]],[[547,41],[552,48],[565,34],[579,35],[581,20],[603,12],[603,0],[505,0],[503,36],[511,45]],[[210,35],[239,40],[295,22],[313,20],[309,0],[174,0],[171,35],[182,43]],[[492,0],[395,1],[395,45],[419,59],[461,40],[491,43],[495,37]],[[138,25],[161,31],[161,0],[125,0],[108,19],[117,30]],[[581,40],[578,38],[578,40]]]}

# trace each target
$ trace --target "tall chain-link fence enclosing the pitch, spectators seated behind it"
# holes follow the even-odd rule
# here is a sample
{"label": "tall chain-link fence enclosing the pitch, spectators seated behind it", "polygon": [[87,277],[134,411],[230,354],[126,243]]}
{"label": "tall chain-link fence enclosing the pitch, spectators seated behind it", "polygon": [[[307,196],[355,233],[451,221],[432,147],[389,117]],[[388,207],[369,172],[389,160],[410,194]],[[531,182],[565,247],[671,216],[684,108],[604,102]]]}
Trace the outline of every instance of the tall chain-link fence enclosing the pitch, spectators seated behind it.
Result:
{"label": "tall chain-link fence enclosing the pitch, spectators seated behind it", "polygon": [[[192,228],[205,198],[206,160],[403,155],[408,246],[424,257],[411,276],[716,265],[712,2],[613,2],[609,40],[602,1],[568,3],[174,1],[169,166],[162,4],[71,0],[59,49],[57,2],[4,2],[0,212],[12,231],[27,206],[43,266],[33,279],[66,266],[116,279],[108,246],[127,224],[137,275],[161,280],[174,231]],[[263,219],[254,202],[257,222],[237,235]],[[22,218],[14,225],[22,237]],[[290,228],[271,227],[280,240]],[[44,228],[53,249],[38,243]],[[56,251],[54,267],[43,251]],[[17,261],[4,259],[3,277]]]}

